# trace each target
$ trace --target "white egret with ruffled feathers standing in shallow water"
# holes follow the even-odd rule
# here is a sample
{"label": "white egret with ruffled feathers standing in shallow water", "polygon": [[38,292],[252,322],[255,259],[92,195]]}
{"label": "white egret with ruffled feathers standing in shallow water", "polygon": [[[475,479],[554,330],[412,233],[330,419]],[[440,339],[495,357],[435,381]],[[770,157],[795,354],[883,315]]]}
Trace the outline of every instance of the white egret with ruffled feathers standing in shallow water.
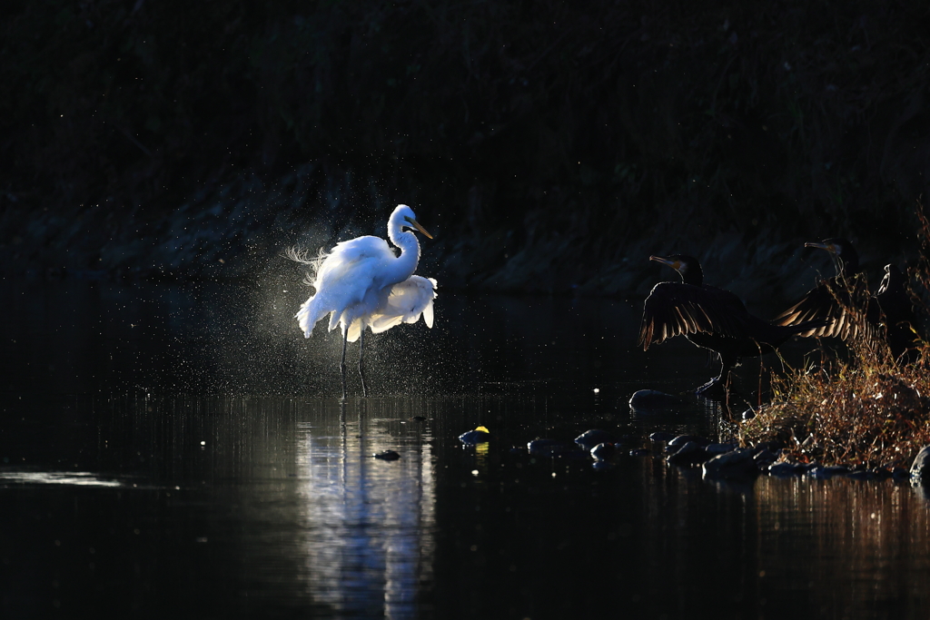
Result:
{"label": "white egret with ruffled feathers standing in shallow water", "polygon": [[413,209],[398,204],[388,218],[388,238],[401,249],[395,256],[392,248],[380,237],[365,235],[337,244],[329,254],[307,260],[292,252],[291,257],[314,266],[313,288],[316,292],[300,306],[297,318],[304,337],[310,337],[317,321],[329,314],[329,330],[342,327],[342,398],[346,397],[346,347],[359,340],[358,373],[362,377],[362,393],[367,396],[362,353],[365,327],[372,333],[391,329],[400,323],[417,323],[420,315],[427,327],[432,327],[432,300],[436,297],[436,281],[413,275],[419,263],[419,242],[415,229],[432,239],[432,234],[419,225]]}

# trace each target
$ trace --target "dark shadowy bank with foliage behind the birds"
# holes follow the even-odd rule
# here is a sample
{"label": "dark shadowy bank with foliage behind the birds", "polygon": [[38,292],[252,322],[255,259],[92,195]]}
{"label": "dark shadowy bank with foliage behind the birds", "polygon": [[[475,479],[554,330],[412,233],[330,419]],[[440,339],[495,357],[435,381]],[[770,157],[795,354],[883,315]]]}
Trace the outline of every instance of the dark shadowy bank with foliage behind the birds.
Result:
{"label": "dark shadowy bank with foliage behind the birds", "polygon": [[7,272],[292,269],[397,203],[450,286],[642,293],[678,251],[778,296],[804,241],[873,277],[917,252],[924,2],[8,0],[0,29]]}

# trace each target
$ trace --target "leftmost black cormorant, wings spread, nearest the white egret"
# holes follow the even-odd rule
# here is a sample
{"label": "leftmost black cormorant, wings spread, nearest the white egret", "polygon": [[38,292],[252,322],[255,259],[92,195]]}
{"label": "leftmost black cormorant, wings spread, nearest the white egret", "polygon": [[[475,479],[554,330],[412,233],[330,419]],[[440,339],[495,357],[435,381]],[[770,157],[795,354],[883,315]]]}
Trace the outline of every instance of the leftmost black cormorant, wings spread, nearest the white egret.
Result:
{"label": "leftmost black cormorant, wings spread, nearest the white egret", "polygon": [[685,336],[698,347],[720,355],[720,376],[697,389],[705,397],[726,393],[730,369],[739,358],[755,357],[776,349],[790,336],[823,327],[829,319],[781,326],[753,316],[739,297],[704,284],[697,258],[681,254],[649,257],[678,271],[682,282],[661,282],[646,297],[638,344],[643,350],[674,336]]}

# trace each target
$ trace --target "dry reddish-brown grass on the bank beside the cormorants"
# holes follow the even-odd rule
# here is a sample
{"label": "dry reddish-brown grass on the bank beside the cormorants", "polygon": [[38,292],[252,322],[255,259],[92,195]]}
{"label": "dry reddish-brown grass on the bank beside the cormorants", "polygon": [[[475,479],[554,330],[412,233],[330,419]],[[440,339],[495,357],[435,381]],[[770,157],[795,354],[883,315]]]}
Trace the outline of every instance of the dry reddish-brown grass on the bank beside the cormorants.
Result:
{"label": "dry reddish-brown grass on the bank beside the cormorants", "polygon": [[[926,316],[930,221],[923,208],[918,217],[922,258],[909,274],[915,308]],[[862,313],[854,320],[864,333]],[[739,440],[777,442],[787,459],[801,463],[910,467],[930,444],[930,343],[922,341],[918,352],[915,362],[896,362],[883,340],[868,338],[842,356],[821,348],[819,360],[773,377],[771,402],[738,430]]]}

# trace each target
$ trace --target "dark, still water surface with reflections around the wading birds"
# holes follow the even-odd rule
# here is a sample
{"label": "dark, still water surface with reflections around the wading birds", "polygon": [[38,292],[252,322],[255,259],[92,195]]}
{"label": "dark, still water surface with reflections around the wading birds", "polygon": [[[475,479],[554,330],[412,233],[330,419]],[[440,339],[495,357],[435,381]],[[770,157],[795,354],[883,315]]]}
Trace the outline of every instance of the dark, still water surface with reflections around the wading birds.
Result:
{"label": "dark, still water surface with reflections around the wading birds", "polygon": [[[701,352],[635,349],[638,304],[441,290],[340,403],[290,283],[0,292],[3,618],[930,617],[921,489],[664,463],[651,431],[729,422],[687,396]],[[642,388],[684,404],[631,412]],[[591,428],[656,455],[525,448]]]}

